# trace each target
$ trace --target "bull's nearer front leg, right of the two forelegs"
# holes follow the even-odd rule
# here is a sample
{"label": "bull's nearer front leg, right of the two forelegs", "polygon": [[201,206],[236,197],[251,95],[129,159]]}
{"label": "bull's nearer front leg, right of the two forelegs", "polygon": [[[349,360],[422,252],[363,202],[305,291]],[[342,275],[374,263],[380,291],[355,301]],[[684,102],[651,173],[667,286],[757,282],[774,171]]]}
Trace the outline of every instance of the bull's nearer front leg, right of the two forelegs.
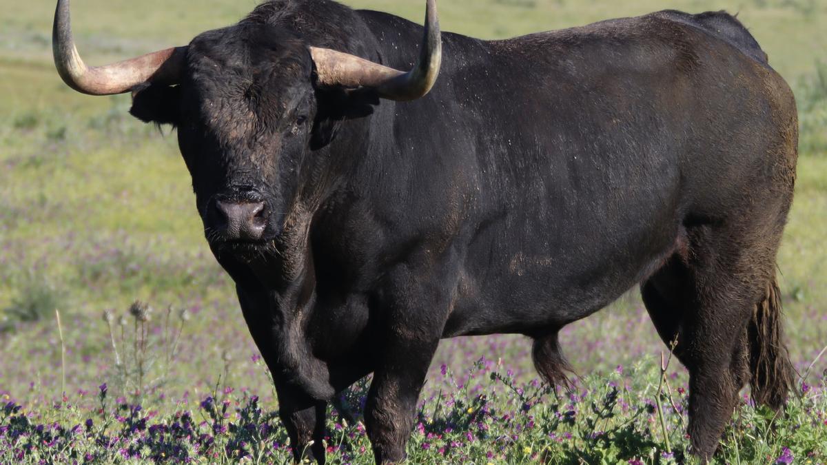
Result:
{"label": "bull's nearer front leg, right of the two forelegs", "polygon": [[[423,275],[432,279],[422,282]],[[365,412],[376,463],[405,458],[419,392],[447,319],[449,275],[397,270],[392,297],[377,309],[375,370]]]}

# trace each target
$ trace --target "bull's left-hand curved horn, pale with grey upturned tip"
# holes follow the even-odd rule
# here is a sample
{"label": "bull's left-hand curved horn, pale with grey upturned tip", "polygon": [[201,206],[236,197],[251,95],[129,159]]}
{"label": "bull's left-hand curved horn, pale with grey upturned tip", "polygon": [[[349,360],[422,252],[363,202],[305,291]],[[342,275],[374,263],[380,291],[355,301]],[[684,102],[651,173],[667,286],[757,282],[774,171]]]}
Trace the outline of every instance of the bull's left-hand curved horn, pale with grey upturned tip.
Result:
{"label": "bull's left-hand curved horn, pale with grey upturned tip", "polygon": [[90,95],[125,93],[139,84],[176,84],[184,65],[186,47],[174,47],[123,60],[112,65],[89,68],[80,59],[72,39],[69,0],[58,0],[52,26],[52,53],[55,66],[66,84]]}

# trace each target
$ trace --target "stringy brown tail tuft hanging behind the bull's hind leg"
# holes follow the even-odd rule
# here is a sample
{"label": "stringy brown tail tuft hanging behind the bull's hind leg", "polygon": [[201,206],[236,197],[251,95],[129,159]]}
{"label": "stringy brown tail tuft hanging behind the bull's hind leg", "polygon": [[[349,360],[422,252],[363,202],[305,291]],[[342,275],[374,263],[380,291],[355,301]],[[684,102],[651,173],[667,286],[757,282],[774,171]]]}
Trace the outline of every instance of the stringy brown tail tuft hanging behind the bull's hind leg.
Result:
{"label": "stringy brown tail tuft hanging behind the bull's hind leg", "polygon": [[753,400],[778,410],[795,384],[795,370],[783,338],[781,292],[773,278],[749,323],[749,368]]}

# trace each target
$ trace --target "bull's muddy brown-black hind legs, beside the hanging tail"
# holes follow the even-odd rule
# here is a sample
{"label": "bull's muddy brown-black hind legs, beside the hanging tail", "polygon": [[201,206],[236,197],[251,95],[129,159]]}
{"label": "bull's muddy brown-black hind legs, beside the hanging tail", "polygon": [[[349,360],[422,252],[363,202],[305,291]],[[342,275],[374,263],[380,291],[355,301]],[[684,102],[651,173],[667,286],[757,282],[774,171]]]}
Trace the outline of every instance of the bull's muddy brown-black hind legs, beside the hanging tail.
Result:
{"label": "bull's muddy brown-black hind legs, beside the hanging tail", "polygon": [[[643,300],[664,341],[690,373],[692,451],[710,459],[749,381],[748,331],[767,283],[777,236],[762,228],[700,226],[691,253],[676,256],[642,286]],[[767,230],[764,229],[764,232]]]}

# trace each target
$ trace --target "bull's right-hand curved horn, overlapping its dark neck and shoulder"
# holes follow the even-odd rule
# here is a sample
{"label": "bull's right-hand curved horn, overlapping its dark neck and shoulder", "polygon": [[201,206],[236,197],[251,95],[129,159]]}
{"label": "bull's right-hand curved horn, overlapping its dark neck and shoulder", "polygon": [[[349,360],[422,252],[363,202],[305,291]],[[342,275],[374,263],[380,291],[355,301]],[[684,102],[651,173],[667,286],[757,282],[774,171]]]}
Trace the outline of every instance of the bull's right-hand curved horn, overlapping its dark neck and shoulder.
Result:
{"label": "bull's right-hand curved horn, overlapping its dark neck and shoulder", "polygon": [[419,60],[405,73],[336,50],[310,47],[316,64],[318,82],[344,87],[372,87],[380,97],[390,100],[414,100],[423,97],[437,82],[442,61],[436,0],[427,0],[425,34]]}

